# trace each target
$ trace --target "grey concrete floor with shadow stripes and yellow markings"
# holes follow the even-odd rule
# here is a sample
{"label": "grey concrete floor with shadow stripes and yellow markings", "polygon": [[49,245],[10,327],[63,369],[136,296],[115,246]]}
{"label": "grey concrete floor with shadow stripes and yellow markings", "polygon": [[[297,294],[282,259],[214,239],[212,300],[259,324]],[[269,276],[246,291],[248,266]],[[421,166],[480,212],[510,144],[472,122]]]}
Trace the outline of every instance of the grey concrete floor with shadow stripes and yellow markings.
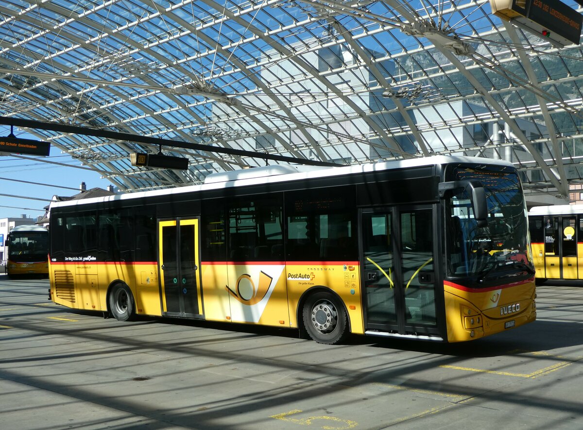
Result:
{"label": "grey concrete floor with shadow stripes and yellow markings", "polygon": [[3,429],[583,429],[583,287],[466,344],[168,319],[121,323],[0,274]]}

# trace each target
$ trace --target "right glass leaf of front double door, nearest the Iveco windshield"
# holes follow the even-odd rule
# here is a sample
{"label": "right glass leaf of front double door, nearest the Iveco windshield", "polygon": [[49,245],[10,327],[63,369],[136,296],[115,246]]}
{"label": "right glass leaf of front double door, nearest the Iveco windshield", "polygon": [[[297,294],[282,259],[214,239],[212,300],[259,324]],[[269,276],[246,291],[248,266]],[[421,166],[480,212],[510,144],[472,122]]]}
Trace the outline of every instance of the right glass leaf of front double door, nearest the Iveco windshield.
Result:
{"label": "right glass leaf of front double door, nearest the Iveco windshield", "polygon": [[430,209],[401,213],[401,255],[406,325],[436,325]]}

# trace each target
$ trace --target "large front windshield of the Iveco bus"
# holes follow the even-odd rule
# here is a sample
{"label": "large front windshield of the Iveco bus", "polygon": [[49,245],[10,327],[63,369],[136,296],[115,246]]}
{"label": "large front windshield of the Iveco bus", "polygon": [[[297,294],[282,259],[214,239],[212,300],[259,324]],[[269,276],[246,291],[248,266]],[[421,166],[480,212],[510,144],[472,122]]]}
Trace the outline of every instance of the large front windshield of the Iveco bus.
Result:
{"label": "large front windshield of the Iveco bus", "polygon": [[458,189],[447,200],[447,275],[468,278],[473,287],[534,273],[526,205],[514,172],[458,168],[455,180],[479,181],[486,191],[487,225],[478,227],[468,192]]}

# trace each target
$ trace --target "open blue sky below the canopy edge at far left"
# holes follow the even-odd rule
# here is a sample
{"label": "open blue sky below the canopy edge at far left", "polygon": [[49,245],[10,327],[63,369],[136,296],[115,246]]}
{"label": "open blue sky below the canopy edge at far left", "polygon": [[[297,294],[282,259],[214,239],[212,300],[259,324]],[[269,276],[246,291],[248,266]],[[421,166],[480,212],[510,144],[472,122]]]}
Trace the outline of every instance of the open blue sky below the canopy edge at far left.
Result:
{"label": "open blue sky below the canopy edge at far left", "polygon": [[[9,127],[0,125],[1,136],[8,136],[9,133]],[[16,128],[14,134],[23,139],[37,139]],[[108,185],[112,185],[107,179],[101,179],[101,174],[97,172],[73,167],[82,166],[82,164],[67,154],[62,154],[56,147],[51,146],[48,157],[26,157],[29,159],[10,155],[0,156],[0,193],[3,194],[0,195],[0,218],[21,217],[22,214],[26,214],[29,218],[36,218],[44,213],[43,207],[48,205],[48,200],[53,195],[75,195],[79,192],[76,190],[79,190],[81,182],[85,182],[87,189],[96,187],[107,189]],[[45,160],[67,164],[70,167],[46,163]],[[23,181],[51,186],[27,184]],[[75,188],[75,190],[69,188]]]}

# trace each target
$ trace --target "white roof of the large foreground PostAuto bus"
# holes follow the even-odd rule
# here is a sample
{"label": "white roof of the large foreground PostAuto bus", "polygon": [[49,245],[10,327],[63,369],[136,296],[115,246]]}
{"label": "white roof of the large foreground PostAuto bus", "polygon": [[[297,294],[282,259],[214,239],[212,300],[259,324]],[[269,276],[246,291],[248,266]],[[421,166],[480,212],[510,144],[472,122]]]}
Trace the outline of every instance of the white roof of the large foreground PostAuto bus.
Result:
{"label": "white roof of the large foreground PostAuto bus", "polygon": [[[141,191],[136,193],[124,193],[113,196],[96,197],[92,199],[83,200],[68,200],[65,202],[51,202],[51,209],[54,207],[85,205],[87,203],[110,202],[113,200],[125,199],[139,199],[152,196],[162,196],[168,194],[180,194],[193,191],[212,190],[220,188],[230,188],[233,186],[244,185],[260,185],[270,184],[273,182],[286,182],[310,178],[324,178],[334,176],[345,176],[351,174],[358,174],[364,172],[395,170],[399,168],[413,168],[428,165],[444,165],[451,163],[472,163],[477,165],[498,165],[501,167],[512,167],[514,165],[504,160],[493,160],[490,158],[480,157],[461,157],[461,156],[433,156],[433,157],[418,157],[409,158],[407,160],[383,161],[379,163],[356,164],[344,167],[328,167],[328,168],[314,168],[306,166],[285,166],[285,168],[277,168],[278,166],[268,166],[267,169],[255,167],[245,169],[242,171],[226,172],[216,174],[215,179],[212,177],[202,185],[188,185],[178,188],[164,188],[152,191]],[[274,169],[275,167],[275,169]],[[254,172],[258,169],[257,172]],[[262,174],[257,174],[262,171]],[[287,173],[287,171],[292,171]],[[294,172],[296,171],[296,172]],[[248,173],[247,173],[248,172]],[[211,175],[209,175],[211,176]]]}

